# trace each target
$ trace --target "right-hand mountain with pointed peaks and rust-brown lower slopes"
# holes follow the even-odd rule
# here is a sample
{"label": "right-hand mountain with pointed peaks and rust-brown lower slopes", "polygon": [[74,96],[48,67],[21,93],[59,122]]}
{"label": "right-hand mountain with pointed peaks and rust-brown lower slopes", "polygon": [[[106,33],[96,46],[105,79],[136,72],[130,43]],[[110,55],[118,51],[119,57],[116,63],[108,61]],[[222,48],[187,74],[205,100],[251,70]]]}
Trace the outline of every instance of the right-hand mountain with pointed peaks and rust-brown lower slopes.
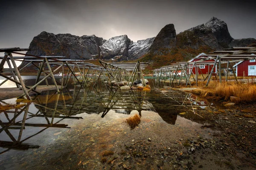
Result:
{"label": "right-hand mountain with pointed peaks and rust-brown lower slopes", "polygon": [[215,17],[177,35],[173,24],[168,24],[157,34],[150,50],[140,61],[151,62],[148,69],[154,69],[174,62],[188,61],[202,52],[247,46],[253,42],[256,42],[254,38],[233,39],[227,24]]}

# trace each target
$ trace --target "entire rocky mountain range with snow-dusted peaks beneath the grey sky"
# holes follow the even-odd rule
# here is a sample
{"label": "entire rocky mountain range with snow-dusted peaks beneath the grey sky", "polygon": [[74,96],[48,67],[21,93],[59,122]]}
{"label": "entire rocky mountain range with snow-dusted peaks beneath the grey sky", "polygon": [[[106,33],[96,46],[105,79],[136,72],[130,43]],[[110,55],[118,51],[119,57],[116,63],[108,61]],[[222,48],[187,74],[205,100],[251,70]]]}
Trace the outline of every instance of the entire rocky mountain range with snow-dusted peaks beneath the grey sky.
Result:
{"label": "entire rocky mountain range with snow-dusted peaks beneath the grey sky", "polygon": [[[227,24],[212,17],[207,23],[176,34],[168,24],[156,37],[133,42],[127,35],[109,40],[95,35],[75,36],[52,34],[45,31],[34,37],[27,54],[37,56],[65,56],[67,59],[105,59],[115,62],[140,60],[151,62],[149,69],[173,62],[187,61],[201,52],[221,50],[232,46],[247,46],[254,38],[233,39]],[[22,63],[22,67],[25,63]]]}

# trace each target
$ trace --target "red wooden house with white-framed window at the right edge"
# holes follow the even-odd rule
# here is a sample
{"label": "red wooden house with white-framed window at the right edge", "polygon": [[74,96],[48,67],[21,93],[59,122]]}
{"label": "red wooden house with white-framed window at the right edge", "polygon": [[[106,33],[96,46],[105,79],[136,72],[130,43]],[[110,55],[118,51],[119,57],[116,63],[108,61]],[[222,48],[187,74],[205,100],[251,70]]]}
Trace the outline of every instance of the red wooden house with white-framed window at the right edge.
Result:
{"label": "red wooden house with white-framed window at the right edge", "polygon": [[[252,55],[255,55],[255,54],[252,54]],[[233,67],[236,68],[236,76],[238,77],[256,76],[255,59],[240,61]]]}

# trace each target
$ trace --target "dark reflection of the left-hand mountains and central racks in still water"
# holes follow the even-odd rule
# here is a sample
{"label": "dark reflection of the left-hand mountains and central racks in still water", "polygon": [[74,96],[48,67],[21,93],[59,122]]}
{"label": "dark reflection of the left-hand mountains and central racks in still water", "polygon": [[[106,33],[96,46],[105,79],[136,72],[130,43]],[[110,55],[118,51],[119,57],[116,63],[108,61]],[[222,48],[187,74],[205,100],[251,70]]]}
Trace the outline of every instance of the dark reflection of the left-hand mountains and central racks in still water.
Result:
{"label": "dark reflection of the left-hand mountains and central racks in still water", "polygon": [[145,91],[121,91],[109,88],[74,88],[60,94],[48,91],[45,95],[37,96],[34,104],[42,113],[73,116],[79,113],[96,113],[104,117],[111,109],[116,113],[130,114],[137,110],[154,111],[154,107],[145,100]]}

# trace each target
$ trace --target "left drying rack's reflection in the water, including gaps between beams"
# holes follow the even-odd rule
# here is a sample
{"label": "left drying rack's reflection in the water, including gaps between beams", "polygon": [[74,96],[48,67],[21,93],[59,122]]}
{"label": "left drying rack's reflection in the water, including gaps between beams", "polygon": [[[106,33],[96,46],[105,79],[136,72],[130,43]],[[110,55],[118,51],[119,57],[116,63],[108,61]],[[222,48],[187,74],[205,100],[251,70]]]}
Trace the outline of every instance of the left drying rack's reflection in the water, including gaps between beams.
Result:
{"label": "left drying rack's reflection in the water, including gaps between beams", "polygon": [[[1,104],[5,103],[0,101]],[[19,105],[20,103],[17,103]],[[28,139],[33,136],[38,135],[49,127],[57,128],[69,128],[66,124],[61,124],[60,122],[63,119],[82,119],[81,117],[69,117],[69,116],[57,116],[53,112],[51,115],[42,112],[41,109],[35,113],[32,104],[28,103],[21,108],[12,109],[9,111],[3,111],[3,114],[0,115],[0,147],[3,149],[0,150],[0,154],[5,153],[8,150],[28,150],[29,148],[39,148],[38,145],[26,144]],[[42,117],[42,119],[32,119],[36,117]],[[54,118],[61,118],[55,120]],[[32,121],[31,121],[32,120]],[[27,127],[34,127],[35,130],[28,130],[29,133],[26,133]],[[25,135],[23,136],[23,134]],[[22,138],[23,136],[23,138]]]}

